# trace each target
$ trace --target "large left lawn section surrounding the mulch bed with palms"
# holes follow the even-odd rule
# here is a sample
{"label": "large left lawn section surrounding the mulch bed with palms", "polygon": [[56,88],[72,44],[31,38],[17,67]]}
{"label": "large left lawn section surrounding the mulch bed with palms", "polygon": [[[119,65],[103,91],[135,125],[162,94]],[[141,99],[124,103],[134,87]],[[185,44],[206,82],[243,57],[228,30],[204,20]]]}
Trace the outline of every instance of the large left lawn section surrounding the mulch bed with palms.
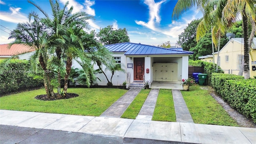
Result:
{"label": "large left lawn section surrounding the mulch bed with palms", "polygon": [[45,94],[44,89],[31,90],[1,97],[0,109],[100,116],[126,92],[127,90],[116,88],[68,88],[68,93],[76,93],[79,96],[70,99],[43,101],[34,97]]}

